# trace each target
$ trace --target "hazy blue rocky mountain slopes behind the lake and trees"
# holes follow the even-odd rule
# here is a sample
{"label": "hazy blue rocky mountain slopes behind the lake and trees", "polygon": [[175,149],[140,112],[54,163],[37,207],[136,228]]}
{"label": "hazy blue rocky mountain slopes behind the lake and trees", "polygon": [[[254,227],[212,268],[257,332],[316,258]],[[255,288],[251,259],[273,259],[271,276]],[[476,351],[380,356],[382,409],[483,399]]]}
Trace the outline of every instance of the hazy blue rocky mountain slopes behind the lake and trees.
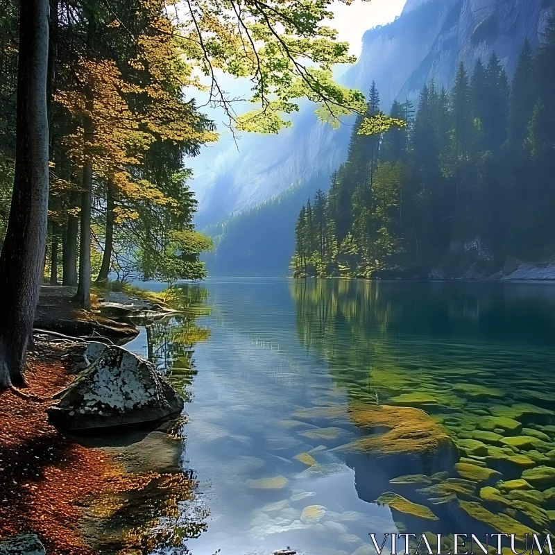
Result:
{"label": "hazy blue rocky mountain slopes behind the lake and trees", "polygon": [[[554,2],[407,0],[394,22],[365,33],[359,61],[340,80],[363,91],[375,81],[382,110],[387,111],[394,99],[415,99],[431,78],[438,87],[450,87],[460,62],[471,69],[478,58],[487,60],[493,51],[511,76],[524,39],[537,44]],[[193,161],[192,186],[200,208],[197,225],[226,221],[225,237],[220,236],[216,253],[207,260],[211,273],[241,273],[246,268],[250,274],[267,273],[273,266],[270,257],[284,264],[276,273],[287,273],[285,261],[294,238],[291,215],[286,217],[284,211],[296,215],[307,196],[327,189],[326,176],[345,160],[351,130],[352,120],[334,131],[318,121],[313,110],[314,105],[302,105],[293,128],[284,133],[241,137],[239,149],[224,141]],[[267,202],[279,199],[290,187],[297,194],[287,195],[287,203]],[[250,210],[262,203],[259,210]],[[266,219],[265,210],[282,211],[282,216],[276,213]],[[241,212],[243,216],[238,216]],[[251,248],[259,243],[256,225],[270,226],[264,229],[269,241],[264,248]],[[234,266],[238,249],[250,257],[248,264],[243,257]]]}

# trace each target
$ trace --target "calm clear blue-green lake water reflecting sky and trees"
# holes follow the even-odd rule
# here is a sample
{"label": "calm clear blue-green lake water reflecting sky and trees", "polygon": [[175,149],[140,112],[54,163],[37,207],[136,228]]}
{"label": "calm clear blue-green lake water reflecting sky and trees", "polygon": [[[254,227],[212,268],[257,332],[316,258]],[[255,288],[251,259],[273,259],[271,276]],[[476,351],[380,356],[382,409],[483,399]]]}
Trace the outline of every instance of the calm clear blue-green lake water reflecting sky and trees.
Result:
{"label": "calm clear blue-green lake water reflecting sky and trees", "polygon": [[[555,466],[554,286],[213,278],[187,292],[196,309],[143,329],[128,348],[157,361],[189,400],[182,466],[210,512],[186,541],[193,554],[364,555],[369,532],[495,531],[459,500],[551,527],[555,480],[530,480],[540,516],[484,502],[480,489]],[[341,448],[364,435],[348,412],[357,402],[424,410],[468,462],[500,474],[463,475],[456,497],[446,476],[434,479],[447,484],[440,493],[419,491],[431,481],[391,484],[443,463],[392,466]],[[501,414],[518,427],[492,420]],[[507,445],[509,436],[528,440]],[[527,461],[509,461],[515,454]],[[451,468],[450,477],[461,475]],[[388,491],[438,520],[377,504]],[[187,503],[181,510],[186,519]]]}

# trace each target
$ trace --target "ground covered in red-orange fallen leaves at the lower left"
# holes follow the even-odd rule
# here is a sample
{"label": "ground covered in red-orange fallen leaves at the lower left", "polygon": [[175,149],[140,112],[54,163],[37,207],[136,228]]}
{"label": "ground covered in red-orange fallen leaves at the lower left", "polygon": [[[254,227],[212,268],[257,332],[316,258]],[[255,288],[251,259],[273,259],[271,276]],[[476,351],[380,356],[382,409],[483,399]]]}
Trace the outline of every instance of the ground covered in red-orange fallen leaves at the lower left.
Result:
{"label": "ground covered in red-orange fallen leaves at the lower left", "polygon": [[74,379],[61,357],[55,345],[28,356],[25,393],[42,401],[0,391],[0,537],[36,533],[49,554],[87,554],[78,502],[99,493],[110,461],[48,422],[51,396]]}

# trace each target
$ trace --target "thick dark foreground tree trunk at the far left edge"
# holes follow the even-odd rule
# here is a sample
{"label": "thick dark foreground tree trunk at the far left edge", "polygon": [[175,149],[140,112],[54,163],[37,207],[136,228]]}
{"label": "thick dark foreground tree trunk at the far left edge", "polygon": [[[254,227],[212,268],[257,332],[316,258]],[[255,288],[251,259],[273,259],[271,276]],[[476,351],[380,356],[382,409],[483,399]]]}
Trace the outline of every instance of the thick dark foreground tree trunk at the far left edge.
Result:
{"label": "thick dark foreground tree trunk at the far left edge", "polygon": [[0,256],[0,386],[24,384],[42,282],[48,217],[49,1],[19,3],[15,177]]}

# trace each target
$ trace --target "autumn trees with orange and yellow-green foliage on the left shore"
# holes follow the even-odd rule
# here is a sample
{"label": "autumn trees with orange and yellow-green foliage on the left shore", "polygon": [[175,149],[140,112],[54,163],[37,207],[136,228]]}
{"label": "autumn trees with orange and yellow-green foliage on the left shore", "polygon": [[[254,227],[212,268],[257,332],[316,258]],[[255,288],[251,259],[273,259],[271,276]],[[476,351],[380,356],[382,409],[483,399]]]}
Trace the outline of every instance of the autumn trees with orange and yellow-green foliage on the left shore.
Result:
{"label": "autumn trees with orange and yellow-green foliage on the left shore", "polygon": [[[330,3],[3,6],[0,385],[24,383],[44,281],[77,287],[87,310],[93,280],[205,277],[211,241],[194,229],[187,182],[187,157],[219,137],[203,107],[231,133],[278,133],[304,98],[332,125],[364,113],[364,95],[332,79],[355,58],[327,25]],[[226,92],[223,73],[250,79],[250,98]]]}

